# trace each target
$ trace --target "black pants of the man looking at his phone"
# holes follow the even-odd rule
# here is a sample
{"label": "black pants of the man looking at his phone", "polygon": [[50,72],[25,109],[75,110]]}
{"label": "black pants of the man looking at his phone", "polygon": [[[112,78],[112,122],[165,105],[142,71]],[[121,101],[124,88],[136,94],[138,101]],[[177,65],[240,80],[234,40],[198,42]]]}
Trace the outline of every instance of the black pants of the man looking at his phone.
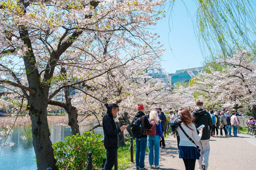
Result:
{"label": "black pants of the man looking at his phone", "polygon": [[117,156],[117,149],[118,147],[105,147],[107,150],[107,159],[104,166],[104,170],[111,170],[112,167],[115,165],[116,156]]}

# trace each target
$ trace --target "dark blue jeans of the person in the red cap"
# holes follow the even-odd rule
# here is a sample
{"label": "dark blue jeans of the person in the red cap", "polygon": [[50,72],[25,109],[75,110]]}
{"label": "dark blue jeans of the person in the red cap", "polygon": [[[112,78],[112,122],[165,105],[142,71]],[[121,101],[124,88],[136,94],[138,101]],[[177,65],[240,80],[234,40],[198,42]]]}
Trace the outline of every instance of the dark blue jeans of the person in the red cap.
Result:
{"label": "dark blue jeans of the person in the red cap", "polygon": [[145,153],[146,153],[146,148],[147,148],[147,140],[148,138],[135,138],[136,142],[136,155],[135,155],[135,160],[136,160],[136,167],[140,167],[140,169],[143,169],[145,167]]}

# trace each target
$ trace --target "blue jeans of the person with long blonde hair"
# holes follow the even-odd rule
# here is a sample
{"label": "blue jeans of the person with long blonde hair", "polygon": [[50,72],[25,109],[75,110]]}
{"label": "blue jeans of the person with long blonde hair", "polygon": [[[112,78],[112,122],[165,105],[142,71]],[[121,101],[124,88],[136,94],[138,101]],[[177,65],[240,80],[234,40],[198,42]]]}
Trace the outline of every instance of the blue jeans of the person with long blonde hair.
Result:
{"label": "blue jeans of the person with long blonde hair", "polygon": [[[149,165],[159,165],[159,135],[155,135],[155,137],[148,136],[148,159]],[[155,163],[154,163],[154,151],[155,151]]]}

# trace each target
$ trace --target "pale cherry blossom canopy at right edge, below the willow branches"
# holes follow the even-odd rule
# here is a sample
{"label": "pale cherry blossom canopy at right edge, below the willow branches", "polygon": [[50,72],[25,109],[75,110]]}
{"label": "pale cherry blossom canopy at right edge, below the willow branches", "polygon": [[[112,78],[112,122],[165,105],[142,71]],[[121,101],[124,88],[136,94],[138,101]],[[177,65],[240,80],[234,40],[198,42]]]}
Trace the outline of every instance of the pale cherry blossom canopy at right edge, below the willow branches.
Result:
{"label": "pale cherry blossom canopy at right edge, below the willow branches", "polygon": [[227,68],[194,75],[193,89],[213,106],[249,107],[255,115],[255,55],[250,50],[239,50],[228,60],[219,57],[218,63]]}

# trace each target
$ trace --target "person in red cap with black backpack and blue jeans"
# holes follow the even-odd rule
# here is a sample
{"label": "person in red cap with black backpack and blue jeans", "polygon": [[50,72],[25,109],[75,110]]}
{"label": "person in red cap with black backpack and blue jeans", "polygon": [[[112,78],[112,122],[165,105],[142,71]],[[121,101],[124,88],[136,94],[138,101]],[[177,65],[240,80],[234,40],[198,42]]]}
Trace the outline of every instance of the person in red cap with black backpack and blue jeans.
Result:
{"label": "person in red cap with black backpack and blue jeans", "polygon": [[131,129],[136,142],[135,166],[137,169],[147,170],[144,163],[148,139],[147,129],[151,129],[153,125],[148,122],[148,118],[143,112],[144,106],[139,105],[138,113],[133,118]]}

